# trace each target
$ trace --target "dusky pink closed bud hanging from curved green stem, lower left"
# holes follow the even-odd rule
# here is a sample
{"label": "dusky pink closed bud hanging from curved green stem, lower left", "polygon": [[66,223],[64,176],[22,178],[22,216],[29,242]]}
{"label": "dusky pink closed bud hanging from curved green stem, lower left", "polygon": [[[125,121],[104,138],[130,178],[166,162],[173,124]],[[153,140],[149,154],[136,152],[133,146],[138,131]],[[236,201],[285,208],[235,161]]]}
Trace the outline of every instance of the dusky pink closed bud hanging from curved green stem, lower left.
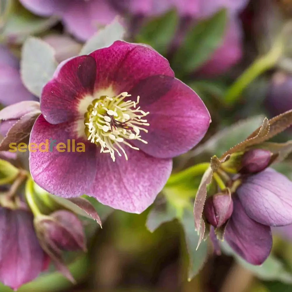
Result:
{"label": "dusky pink closed bud hanging from curved green stem, lower left", "polygon": [[72,212],[60,210],[36,218],[35,227],[42,246],[59,253],[61,250],[86,250],[82,223]]}

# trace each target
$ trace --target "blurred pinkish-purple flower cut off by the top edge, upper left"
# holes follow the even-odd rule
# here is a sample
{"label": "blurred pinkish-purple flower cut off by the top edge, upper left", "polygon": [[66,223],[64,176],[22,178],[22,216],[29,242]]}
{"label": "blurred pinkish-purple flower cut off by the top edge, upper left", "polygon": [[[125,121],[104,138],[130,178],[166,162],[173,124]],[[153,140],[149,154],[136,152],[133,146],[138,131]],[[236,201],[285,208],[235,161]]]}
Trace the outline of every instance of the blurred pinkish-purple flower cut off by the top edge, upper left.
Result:
{"label": "blurred pinkish-purple flower cut off by the top edge, upper left", "polygon": [[81,41],[117,15],[108,0],[20,0],[28,10],[41,16],[59,15],[67,30]]}

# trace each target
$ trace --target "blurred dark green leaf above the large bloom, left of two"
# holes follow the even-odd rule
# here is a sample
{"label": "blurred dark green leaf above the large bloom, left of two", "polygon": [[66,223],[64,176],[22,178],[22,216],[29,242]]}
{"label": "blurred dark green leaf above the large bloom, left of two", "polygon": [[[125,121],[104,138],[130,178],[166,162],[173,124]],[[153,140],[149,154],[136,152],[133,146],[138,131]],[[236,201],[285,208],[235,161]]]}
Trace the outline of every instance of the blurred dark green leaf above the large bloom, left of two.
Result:
{"label": "blurred dark green leaf above the large bloom, left of two", "polygon": [[153,18],[147,22],[136,36],[138,43],[149,44],[156,51],[164,55],[173,40],[178,27],[178,14],[176,10]]}

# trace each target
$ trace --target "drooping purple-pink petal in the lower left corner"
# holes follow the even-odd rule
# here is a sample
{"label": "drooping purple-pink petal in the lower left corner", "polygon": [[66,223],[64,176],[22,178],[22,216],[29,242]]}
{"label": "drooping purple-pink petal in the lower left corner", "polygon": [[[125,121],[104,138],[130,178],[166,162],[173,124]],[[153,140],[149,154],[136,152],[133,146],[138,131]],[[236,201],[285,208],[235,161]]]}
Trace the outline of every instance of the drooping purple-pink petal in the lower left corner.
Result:
{"label": "drooping purple-pink petal in the lower left corner", "polygon": [[16,290],[38,276],[43,260],[32,214],[0,208],[0,281]]}

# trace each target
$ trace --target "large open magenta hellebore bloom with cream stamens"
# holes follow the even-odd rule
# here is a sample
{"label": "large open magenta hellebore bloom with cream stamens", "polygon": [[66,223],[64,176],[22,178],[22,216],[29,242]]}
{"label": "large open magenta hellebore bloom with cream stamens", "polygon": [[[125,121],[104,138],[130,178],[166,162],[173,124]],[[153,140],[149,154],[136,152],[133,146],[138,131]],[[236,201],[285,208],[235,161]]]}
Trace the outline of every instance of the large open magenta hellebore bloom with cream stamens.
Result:
{"label": "large open magenta hellebore bloom with cream stamens", "polygon": [[62,197],[87,194],[140,213],[166,183],[172,157],[205,135],[210,115],[151,48],[116,41],[61,63],[41,95],[30,142],[74,139],[84,152],[30,152],[42,188]]}

